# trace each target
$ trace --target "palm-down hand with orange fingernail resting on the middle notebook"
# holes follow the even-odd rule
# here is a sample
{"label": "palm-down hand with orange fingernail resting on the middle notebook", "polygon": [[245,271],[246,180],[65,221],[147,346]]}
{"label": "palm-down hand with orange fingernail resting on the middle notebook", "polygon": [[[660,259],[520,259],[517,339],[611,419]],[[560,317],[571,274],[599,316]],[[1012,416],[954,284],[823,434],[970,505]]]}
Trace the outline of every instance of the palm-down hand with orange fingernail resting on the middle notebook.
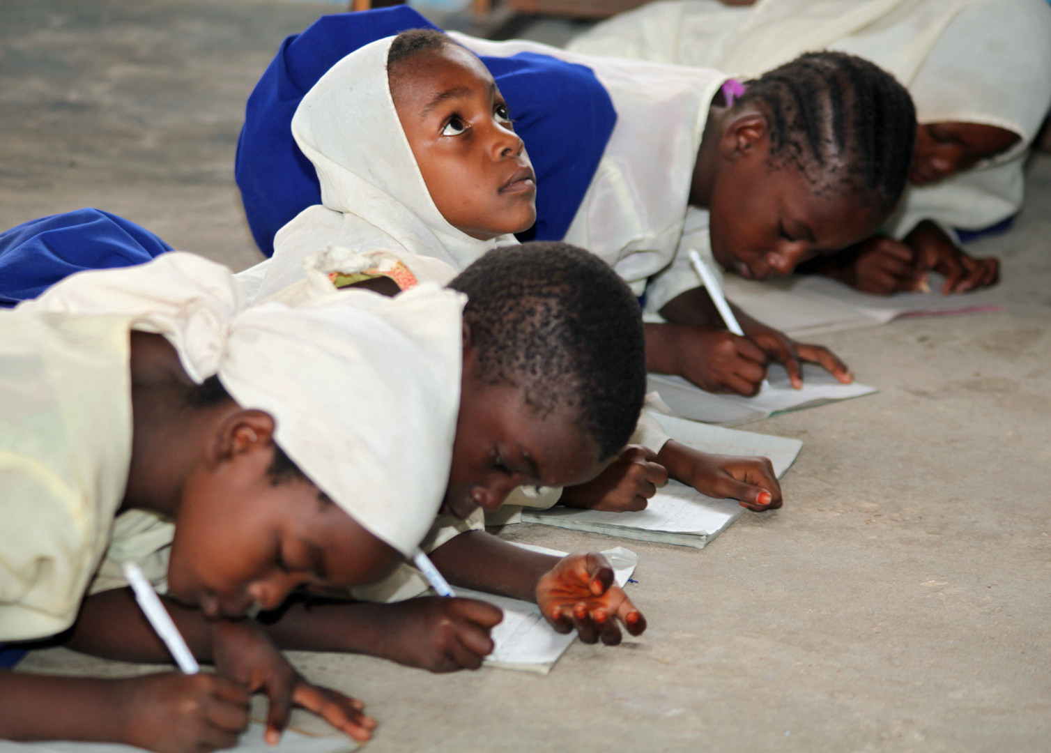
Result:
{"label": "palm-down hand with orange fingernail resting on the middle notebook", "polygon": [[738,500],[756,512],[781,507],[781,485],[766,457],[716,455],[668,440],[658,459],[676,481],[717,500]]}

